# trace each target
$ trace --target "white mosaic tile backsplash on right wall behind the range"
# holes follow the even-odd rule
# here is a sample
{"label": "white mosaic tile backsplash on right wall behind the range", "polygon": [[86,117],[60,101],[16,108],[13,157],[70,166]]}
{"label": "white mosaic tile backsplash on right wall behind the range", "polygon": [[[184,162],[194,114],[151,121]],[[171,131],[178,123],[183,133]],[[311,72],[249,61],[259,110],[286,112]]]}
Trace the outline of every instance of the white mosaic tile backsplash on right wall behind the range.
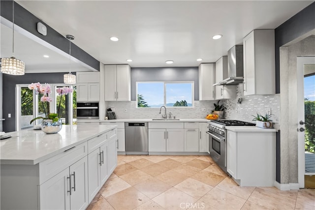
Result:
{"label": "white mosaic tile backsplash on right wall behind the range", "polygon": [[[242,99],[241,104],[237,103],[238,98]],[[220,102],[221,103],[221,102]],[[223,102],[225,118],[230,120],[244,120],[251,122],[256,113],[264,115],[271,109],[271,120],[279,128],[280,122],[280,94],[274,95],[246,95],[243,94],[243,84],[237,85],[236,98]]]}

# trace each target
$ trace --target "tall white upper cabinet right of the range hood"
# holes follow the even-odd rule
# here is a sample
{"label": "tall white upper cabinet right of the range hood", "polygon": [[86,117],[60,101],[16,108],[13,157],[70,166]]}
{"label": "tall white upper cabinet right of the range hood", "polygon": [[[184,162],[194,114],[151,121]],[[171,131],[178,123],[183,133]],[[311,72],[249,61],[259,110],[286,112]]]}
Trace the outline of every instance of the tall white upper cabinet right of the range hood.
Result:
{"label": "tall white upper cabinet right of the range hood", "polygon": [[244,95],[275,94],[275,30],[253,30],[243,48]]}

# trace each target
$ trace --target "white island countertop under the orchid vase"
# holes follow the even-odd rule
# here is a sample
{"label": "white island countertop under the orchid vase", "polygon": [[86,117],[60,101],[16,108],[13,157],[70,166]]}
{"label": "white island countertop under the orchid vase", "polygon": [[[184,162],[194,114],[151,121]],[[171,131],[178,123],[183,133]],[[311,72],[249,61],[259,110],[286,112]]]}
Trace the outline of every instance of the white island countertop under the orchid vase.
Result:
{"label": "white island countertop under the orchid vase", "polygon": [[41,130],[7,133],[11,138],[0,141],[1,164],[34,165],[64,150],[105,133],[116,125],[63,125],[56,134]]}

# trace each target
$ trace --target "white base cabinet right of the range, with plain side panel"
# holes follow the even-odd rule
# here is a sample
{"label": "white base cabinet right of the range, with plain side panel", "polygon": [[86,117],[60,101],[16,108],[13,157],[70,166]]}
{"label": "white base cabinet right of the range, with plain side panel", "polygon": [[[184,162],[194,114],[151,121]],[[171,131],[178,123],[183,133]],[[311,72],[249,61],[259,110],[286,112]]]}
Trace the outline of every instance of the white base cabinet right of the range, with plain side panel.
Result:
{"label": "white base cabinet right of the range, with plain side panel", "polygon": [[240,186],[274,186],[275,132],[227,130],[227,172]]}

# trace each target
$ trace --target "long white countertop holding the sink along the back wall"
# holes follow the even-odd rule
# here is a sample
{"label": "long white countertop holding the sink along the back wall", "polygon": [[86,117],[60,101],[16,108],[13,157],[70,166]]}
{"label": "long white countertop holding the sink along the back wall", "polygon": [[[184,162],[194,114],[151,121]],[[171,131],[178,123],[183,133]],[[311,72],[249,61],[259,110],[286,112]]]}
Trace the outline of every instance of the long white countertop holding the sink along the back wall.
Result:
{"label": "long white countertop holding the sink along the back wall", "polygon": [[84,120],[78,119],[77,122],[207,122],[207,119],[180,119],[180,120],[153,120],[153,119],[116,119],[116,120]]}

